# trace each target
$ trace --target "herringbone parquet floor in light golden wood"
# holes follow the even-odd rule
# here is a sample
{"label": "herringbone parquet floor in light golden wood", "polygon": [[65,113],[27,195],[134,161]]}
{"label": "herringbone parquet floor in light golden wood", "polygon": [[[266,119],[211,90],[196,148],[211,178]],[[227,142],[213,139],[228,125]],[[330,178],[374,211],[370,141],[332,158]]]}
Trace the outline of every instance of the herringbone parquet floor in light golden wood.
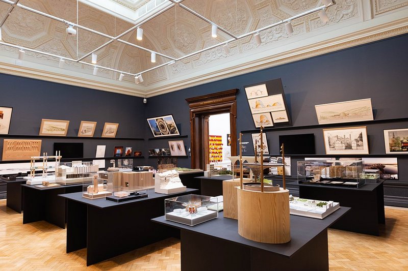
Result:
{"label": "herringbone parquet floor in light golden wood", "polygon": [[[386,223],[379,237],[329,229],[330,270],[408,270],[408,208],[386,207]],[[86,250],[67,254],[65,242],[66,230],[46,222],[23,225],[22,214],[0,200],[1,271],[181,269],[180,241],[174,238],[89,267]]]}

